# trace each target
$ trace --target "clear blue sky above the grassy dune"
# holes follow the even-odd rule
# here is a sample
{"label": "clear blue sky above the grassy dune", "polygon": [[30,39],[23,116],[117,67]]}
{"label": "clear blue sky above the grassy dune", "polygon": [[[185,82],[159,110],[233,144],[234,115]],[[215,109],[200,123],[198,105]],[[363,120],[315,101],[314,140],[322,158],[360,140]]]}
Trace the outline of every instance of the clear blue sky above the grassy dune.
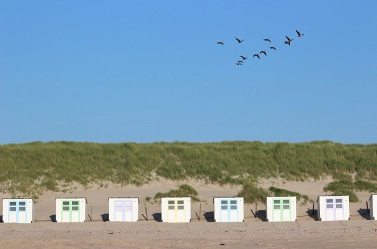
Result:
{"label": "clear blue sky above the grassy dune", "polygon": [[375,143],[376,13],[375,0],[0,0],[0,144]]}

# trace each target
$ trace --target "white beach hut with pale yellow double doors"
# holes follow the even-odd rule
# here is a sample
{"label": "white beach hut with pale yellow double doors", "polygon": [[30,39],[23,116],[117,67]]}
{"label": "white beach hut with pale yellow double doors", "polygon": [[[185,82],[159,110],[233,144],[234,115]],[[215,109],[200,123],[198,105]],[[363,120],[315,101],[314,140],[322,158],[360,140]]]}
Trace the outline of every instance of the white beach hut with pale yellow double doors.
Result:
{"label": "white beach hut with pale yellow double doors", "polygon": [[161,197],[162,222],[190,222],[191,197]]}

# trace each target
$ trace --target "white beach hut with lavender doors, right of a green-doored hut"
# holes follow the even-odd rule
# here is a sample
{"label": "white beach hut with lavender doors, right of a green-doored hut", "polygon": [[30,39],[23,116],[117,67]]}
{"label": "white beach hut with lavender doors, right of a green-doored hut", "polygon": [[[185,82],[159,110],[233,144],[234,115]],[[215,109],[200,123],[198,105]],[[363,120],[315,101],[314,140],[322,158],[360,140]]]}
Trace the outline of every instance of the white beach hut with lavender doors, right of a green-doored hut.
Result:
{"label": "white beach hut with lavender doors, right of a green-doored hut", "polygon": [[320,221],[349,219],[349,195],[319,195],[317,216]]}

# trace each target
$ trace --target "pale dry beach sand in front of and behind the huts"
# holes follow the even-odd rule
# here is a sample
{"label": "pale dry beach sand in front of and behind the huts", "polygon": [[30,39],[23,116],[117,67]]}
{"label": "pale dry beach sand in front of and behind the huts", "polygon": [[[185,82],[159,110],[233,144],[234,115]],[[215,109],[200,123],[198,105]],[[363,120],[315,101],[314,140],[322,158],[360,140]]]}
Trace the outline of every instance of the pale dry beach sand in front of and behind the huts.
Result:
{"label": "pale dry beach sand in front of and behind the huts", "polygon": [[[307,194],[315,200],[325,194],[323,186],[330,179],[322,181],[284,182],[281,179],[267,179],[260,186],[277,187]],[[190,223],[161,223],[158,220],[158,203],[145,202],[146,196],[165,192],[179,184],[188,183],[205,202],[191,204]],[[357,193],[360,202],[350,204],[350,219],[346,221],[315,221],[311,215],[312,204],[297,205],[296,222],[261,222],[264,219],[264,205],[258,205],[258,217],[250,209],[255,205],[245,204],[246,221],[240,223],[214,223],[213,196],[234,196],[240,186],[219,186],[190,180],[173,182],[155,181],[140,187],[109,185],[107,188],[77,188],[71,193],[47,192],[36,200],[33,224],[0,223],[1,248],[377,248],[377,221],[368,220],[365,200],[369,193]],[[9,197],[8,194],[0,194]],[[139,222],[103,222],[107,218],[107,197],[139,197]],[[86,197],[87,211],[93,221],[85,223],[51,222],[55,214],[55,197]],[[145,206],[149,220],[144,220]],[[2,208],[2,206],[0,206]],[[316,208],[316,205],[315,205]],[[196,213],[195,213],[196,212]],[[0,213],[2,210],[0,209]],[[88,218],[87,218],[88,219]],[[222,245],[223,244],[223,245]]]}

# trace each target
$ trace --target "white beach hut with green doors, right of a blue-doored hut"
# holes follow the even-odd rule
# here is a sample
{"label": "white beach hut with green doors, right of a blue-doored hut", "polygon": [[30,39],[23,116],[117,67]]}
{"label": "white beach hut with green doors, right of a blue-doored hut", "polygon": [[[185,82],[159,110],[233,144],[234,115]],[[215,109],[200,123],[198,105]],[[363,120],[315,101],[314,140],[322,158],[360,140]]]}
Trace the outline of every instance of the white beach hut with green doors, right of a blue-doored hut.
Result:
{"label": "white beach hut with green doors, right of a blue-doored hut", "polygon": [[265,212],[267,221],[295,221],[296,196],[267,197]]}

